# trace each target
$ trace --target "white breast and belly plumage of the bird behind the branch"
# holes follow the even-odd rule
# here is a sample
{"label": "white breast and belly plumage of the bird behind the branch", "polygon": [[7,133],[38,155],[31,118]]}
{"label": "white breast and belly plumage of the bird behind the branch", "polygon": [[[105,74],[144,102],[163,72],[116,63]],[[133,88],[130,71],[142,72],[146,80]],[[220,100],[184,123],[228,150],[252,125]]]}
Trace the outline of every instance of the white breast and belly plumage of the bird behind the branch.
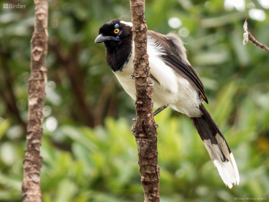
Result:
{"label": "white breast and belly plumage of the bird behind the branch", "polygon": [[[150,74],[159,82],[155,82],[153,86],[154,107],[171,106],[174,110],[188,116],[200,116],[199,104],[201,100],[196,89],[189,81],[165,65],[161,58],[161,55],[164,54],[162,47],[158,46],[151,38],[148,38],[147,53],[149,55]],[[129,77],[133,73],[133,60],[134,51],[132,51],[132,55],[122,71],[114,73],[123,89],[135,100],[134,79]]]}

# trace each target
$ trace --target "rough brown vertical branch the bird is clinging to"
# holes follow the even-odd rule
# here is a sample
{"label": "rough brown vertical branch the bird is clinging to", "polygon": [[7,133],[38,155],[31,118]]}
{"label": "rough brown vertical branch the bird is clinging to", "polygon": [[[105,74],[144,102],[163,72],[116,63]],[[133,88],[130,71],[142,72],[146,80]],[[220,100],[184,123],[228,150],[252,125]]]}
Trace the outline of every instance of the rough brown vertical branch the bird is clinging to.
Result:
{"label": "rough brown vertical branch the bird is clinging to", "polygon": [[145,202],[160,201],[157,131],[153,118],[153,88],[147,55],[147,25],[144,0],[130,0],[134,40],[134,82],[136,87],[136,144]]}

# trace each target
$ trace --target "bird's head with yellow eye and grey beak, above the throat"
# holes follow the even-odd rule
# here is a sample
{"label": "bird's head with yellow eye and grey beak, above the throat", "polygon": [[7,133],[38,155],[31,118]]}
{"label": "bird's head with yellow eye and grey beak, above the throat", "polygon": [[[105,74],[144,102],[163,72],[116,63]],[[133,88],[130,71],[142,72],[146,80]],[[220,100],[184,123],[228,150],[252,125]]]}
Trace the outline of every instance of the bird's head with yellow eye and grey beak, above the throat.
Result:
{"label": "bird's head with yellow eye and grey beak, above the throat", "polygon": [[100,27],[94,43],[104,42],[107,47],[113,47],[130,36],[132,36],[132,23],[116,19]]}

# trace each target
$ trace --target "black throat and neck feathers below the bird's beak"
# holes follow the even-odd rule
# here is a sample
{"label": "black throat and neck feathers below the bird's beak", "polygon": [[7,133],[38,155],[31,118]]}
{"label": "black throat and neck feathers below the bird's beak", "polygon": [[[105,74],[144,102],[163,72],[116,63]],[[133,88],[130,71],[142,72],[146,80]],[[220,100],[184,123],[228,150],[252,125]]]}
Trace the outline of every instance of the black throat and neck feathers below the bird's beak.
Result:
{"label": "black throat and neck feathers below the bird's beak", "polygon": [[[131,29],[131,28],[130,28]],[[127,64],[132,52],[133,33],[119,42],[105,41],[105,58],[112,71],[121,71]]]}

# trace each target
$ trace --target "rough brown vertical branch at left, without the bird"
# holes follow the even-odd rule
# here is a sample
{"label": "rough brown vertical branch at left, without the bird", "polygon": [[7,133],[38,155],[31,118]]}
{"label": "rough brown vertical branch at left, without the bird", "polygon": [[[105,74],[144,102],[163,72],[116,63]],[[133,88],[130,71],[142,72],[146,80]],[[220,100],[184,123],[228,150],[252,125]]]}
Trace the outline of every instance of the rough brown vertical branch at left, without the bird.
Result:
{"label": "rough brown vertical branch at left, without the bird", "polygon": [[47,70],[45,58],[48,41],[48,3],[46,0],[35,0],[35,23],[31,39],[31,77],[28,88],[28,124],[26,150],[23,162],[24,175],[22,183],[23,202],[41,202],[40,155],[42,137],[42,108],[45,103],[45,83]]}

